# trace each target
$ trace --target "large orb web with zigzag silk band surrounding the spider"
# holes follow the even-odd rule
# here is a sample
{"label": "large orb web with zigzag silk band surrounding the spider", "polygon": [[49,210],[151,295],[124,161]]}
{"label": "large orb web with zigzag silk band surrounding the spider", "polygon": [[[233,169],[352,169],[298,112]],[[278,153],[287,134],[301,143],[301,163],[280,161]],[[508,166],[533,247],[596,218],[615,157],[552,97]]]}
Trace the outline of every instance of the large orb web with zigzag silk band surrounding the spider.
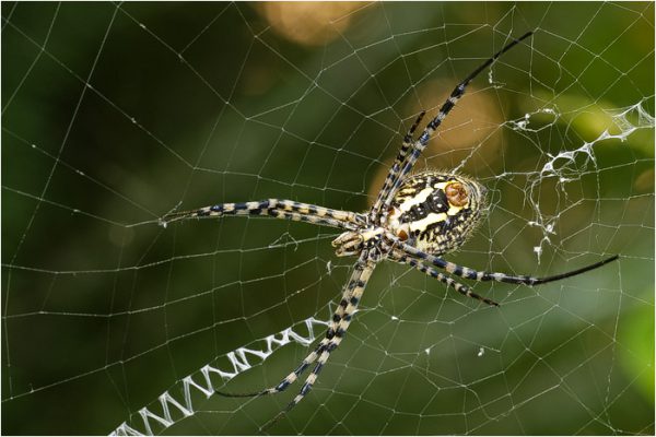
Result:
{"label": "large orb web with zigzag silk band surrounding the spider", "polygon": [[329,320],[335,229],[402,134],[513,36],[418,168],[489,189],[466,299],[377,267],[272,434],[654,434],[653,3],[2,3],[2,432],[254,434]]}

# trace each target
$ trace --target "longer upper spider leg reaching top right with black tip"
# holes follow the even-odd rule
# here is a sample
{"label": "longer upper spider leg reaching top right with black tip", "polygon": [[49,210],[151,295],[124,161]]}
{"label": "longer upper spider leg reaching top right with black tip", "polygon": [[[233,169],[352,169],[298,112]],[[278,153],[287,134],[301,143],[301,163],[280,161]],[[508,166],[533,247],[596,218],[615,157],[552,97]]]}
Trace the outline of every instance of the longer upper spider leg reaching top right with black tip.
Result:
{"label": "longer upper spider leg reaching top right with black tip", "polygon": [[481,71],[483,71],[484,69],[490,67],[494,61],[496,61],[496,59],[501,55],[505,54],[511,48],[515,47],[519,42],[528,38],[530,35],[532,35],[532,32],[527,32],[526,34],[522,35],[519,38],[517,38],[517,39],[513,40],[512,43],[509,43],[508,45],[506,45],[504,48],[502,48],[496,54],[494,54],[494,56],[492,56],[485,62],[480,64],[476,70],[473,70],[467,78],[465,78],[465,80],[462,82],[460,82],[458,85],[456,85],[456,87],[454,88],[454,91],[452,91],[452,93],[448,96],[448,98],[446,99],[446,102],[444,102],[444,104],[440,108],[440,111],[437,113],[435,118],[433,118],[426,125],[426,127],[423,130],[423,132],[421,133],[421,135],[419,135],[419,139],[417,141],[414,141],[414,143],[412,144],[412,150],[410,151],[410,154],[406,157],[401,170],[396,173],[394,182],[391,184],[391,188],[386,193],[387,197],[380,203],[378,210],[375,213],[372,213],[372,216],[382,215],[382,223],[385,223],[385,221],[387,220],[387,210],[389,209],[389,204],[391,203],[391,200],[393,200],[396,191],[398,190],[399,186],[401,185],[403,177],[406,175],[408,175],[410,173],[410,170],[412,170],[412,167],[414,166],[414,164],[417,163],[417,160],[419,160],[419,156],[421,155],[421,153],[424,151],[424,149],[429,144],[429,140],[431,139],[433,133],[437,130],[437,128],[440,127],[440,125],[442,125],[442,121],[446,118],[448,113],[450,113],[450,110],[454,108],[454,106],[456,106],[456,103],[458,103],[460,97],[462,97],[462,95],[465,94],[465,88],[467,87],[467,85],[469,85],[469,82],[471,82]]}

